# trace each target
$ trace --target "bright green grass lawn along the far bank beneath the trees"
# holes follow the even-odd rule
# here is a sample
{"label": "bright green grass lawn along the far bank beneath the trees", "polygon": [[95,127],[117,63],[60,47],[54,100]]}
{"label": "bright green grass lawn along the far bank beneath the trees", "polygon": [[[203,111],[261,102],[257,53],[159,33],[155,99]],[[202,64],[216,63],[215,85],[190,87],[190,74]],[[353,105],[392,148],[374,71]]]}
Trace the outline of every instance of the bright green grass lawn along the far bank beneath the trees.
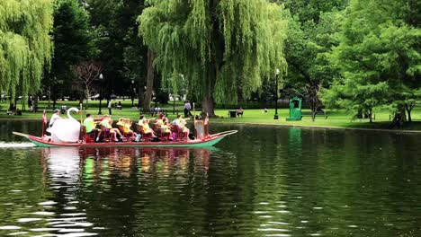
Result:
{"label": "bright green grass lawn along the far bank beneath the trees", "polygon": [[[108,113],[108,109],[105,105],[106,101],[103,101],[102,111],[103,114]],[[130,118],[132,120],[139,119],[139,110],[135,108],[131,108],[131,101],[121,101],[122,103],[122,110],[112,109],[112,117],[114,119],[124,117]],[[43,108],[47,108],[47,101],[40,101],[38,113],[33,113],[31,111],[22,111],[22,116],[10,116],[6,115],[5,108],[8,108],[8,101],[0,102],[1,109],[0,110],[0,118],[6,119],[22,119],[22,118],[37,118],[41,119],[42,117],[42,110]],[[78,101],[58,101],[57,106],[58,108],[61,107],[62,104],[67,106],[67,109],[70,107],[79,107]],[[170,101],[169,104],[166,105],[157,105],[160,108],[164,108],[169,118],[175,118],[175,114],[173,114],[173,103]],[[20,108],[20,105],[18,105]],[[98,114],[99,108],[99,101],[89,101],[89,109],[85,110],[85,112],[91,113],[94,116]],[[175,102],[175,111],[179,113],[183,112],[184,105],[183,101],[176,101]],[[348,128],[372,128],[372,129],[388,129],[390,126],[390,113],[388,111],[381,111],[375,114],[375,119],[372,123],[369,122],[368,119],[354,119],[352,120],[352,115],[347,114],[345,110],[327,110],[328,117],[325,118],[324,116],[318,115],[315,121],[311,120],[310,116],[305,116],[301,119],[301,121],[286,121],[285,118],[289,117],[289,110],[288,109],[278,109],[279,119],[273,119],[274,109],[269,109],[267,113],[264,113],[263,110],[244,110],[244,117],[240,118],[228,118],[228,111],[229,110],[216,110],[216,115],[219,118],[211,118],[210,122],[218,122],[218,123],[250,123],[250,124],[273,124],[273,125],[286,125],[286,126],[303,126],[303,127],[348,127]],[[48,110],[48,117],[51,116],[52,111]],[[193,113],[193,111],[192,111]],[[199,111],[196,111],[198,114]],[[84,116],[85,117],[85,116]],[[150,115],[147,115],[150,117]],[[80,119],[80,116],[74,115],[74,118]],[[412,111],[412,123],[406,123],[404,125],[405,130],[420,130],[421,131],[421,107],[416,107]],[[396,129],[396,128],[395,128]]]}

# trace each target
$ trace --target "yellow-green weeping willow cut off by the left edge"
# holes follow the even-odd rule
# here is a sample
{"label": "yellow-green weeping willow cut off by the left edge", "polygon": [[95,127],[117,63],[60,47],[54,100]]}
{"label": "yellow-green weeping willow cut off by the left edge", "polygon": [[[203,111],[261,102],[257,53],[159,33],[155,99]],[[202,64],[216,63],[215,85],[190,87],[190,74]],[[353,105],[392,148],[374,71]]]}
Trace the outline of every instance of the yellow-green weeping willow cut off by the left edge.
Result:
{"label": "yellow-green weeping willow cut off by the left edge", "polygon": [[51,28],[51,0],[0,1],[1,92],[12,98],[38,92],[51,59]]}

